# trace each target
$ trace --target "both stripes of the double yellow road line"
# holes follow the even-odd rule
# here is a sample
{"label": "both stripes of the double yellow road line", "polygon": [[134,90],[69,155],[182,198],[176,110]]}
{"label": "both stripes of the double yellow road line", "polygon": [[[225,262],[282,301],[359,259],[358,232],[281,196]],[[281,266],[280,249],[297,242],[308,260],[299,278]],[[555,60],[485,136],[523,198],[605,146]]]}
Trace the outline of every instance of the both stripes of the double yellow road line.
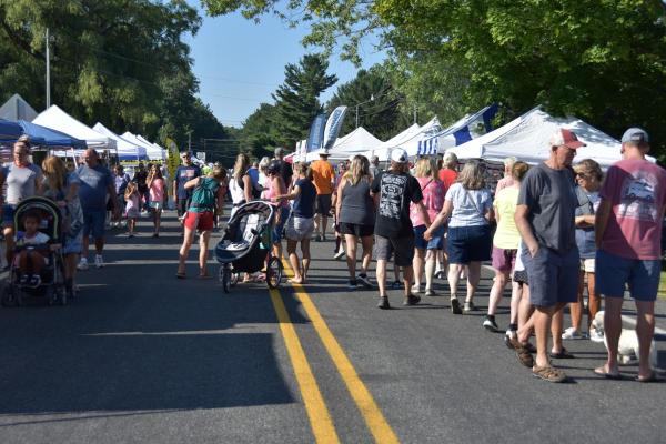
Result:
{"label": "both stripes of the double yellow road line", "polygon": [[[287,274],[293,276],[293,272],[289,265],[286,263],[284,263],[284,265]],[[293,284],[293,289],[296,299],[305,310],[307,317],[310,317],[314,330],[319,334],[326,352],[329,352],[333,364],[344,381],[352,400],[359,407],[375,442],[382,444],[398,443],[400,441],[397,440],[395,432],[393,432],[393,428],[391,428],[391,425],[386,422],[386,418],[372,397],[372,394],[363,381],[361,381],[361,377],[359,377],[352,362],[337,343],[337,340],[331,332],[331,329],[329,329],[329,325],[319,310],[314,306],[310,295],[303,290],[302,285]],[[271,290],[270,294],[273,307],[278,314],[278,321],[280,322],[280,330],[284,337],[284,343],[301,390],[301,395],[303,396],[303,403],[305,404],[305,411],[307,412],[315,441],[317,443],[339,443],[340,438],[337,437],[329,408],[326,407],[326,403],[324,402],[314,374],[312,373],[301,341],[299,340],[289,313],[284,307],[282,296],[278,290]]]}

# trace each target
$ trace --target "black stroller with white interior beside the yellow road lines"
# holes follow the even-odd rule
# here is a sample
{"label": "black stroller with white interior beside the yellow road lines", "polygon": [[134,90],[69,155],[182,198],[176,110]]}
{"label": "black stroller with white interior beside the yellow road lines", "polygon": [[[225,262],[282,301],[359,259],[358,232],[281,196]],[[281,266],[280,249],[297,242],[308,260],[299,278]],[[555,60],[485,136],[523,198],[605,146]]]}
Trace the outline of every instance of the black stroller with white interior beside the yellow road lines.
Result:
{"label": "black stroller with white interior beside the yellow road lines", "polygon": [[264,265],[269,287],[280,286],[282,262],[271,253],[274,214],[269,203],[252,201],[239,206],[226,223],[215,246],[215,259],[222,264],[219,279],[224,293],[238,283],[240,273],[254,273]]}

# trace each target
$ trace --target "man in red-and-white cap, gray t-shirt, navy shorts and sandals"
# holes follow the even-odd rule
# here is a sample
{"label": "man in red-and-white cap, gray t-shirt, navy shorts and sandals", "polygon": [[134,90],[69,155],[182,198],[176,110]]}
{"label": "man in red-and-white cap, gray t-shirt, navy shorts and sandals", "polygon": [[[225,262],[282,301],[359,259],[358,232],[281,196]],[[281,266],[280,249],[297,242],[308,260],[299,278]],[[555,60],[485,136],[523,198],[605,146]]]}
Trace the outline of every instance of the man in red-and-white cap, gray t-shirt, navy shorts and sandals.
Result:
{"label": "man in red-and-white cap, gray t-shirt, navy shorts and sandals", "polygon": [[[546,353],[553,315],[577,300],[578,249],[574,216],[577,205],[574,178],[569,171],[576,149],[585,144],[572,131],[558,129],[551,138],[551,155],[533,168],[521,183],[515,221],[523,238],[522,260],[529,281],[529,306],[521,304],[517,343],[521,362],[535,376],[563,382],[566,375],[554,369]],[[527,350],[532,329],[536,335],[536,360]],[[551,355],[563,356],[562,337],[554,337]]]}

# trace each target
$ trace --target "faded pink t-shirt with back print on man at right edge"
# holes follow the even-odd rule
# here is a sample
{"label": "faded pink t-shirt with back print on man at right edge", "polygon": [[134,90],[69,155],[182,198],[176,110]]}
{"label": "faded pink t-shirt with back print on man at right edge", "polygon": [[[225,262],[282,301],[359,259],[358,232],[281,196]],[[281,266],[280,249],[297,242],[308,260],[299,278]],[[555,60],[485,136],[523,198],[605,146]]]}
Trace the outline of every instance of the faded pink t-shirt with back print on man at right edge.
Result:
{"label": "faded pink t-shirt with back print on man at right edge", "polygon": [[666,170],[646,160],[620,160],[608,169],[599,196],[613,205],[602,250],[626,259],[660,259]]}

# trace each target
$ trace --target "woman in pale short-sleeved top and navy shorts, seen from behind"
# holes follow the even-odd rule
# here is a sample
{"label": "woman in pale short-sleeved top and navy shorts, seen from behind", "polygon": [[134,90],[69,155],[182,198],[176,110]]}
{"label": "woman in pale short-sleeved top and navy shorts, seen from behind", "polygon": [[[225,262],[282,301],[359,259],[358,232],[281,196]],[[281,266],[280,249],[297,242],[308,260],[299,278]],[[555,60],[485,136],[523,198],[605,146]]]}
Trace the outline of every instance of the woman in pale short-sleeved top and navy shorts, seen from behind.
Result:
{"label": "woman in pale short-sleeved top and navy shorts, seen from behind", "polygon": [[431,240],[433,233],[451,216],[448,222],[448,286],[451,289],[451,311],[462,314],[457,300],[457,284],[463,266],[467,265],[467,295],[464,311],[476,310],[474,292],[481,278],[481,263],[491,259],[492,232],[490,222],[494,218],[493,198],[485,184],[485,167],[477,161],[465,163],[456,182],[444,198],[444,206],[424,238]]}

